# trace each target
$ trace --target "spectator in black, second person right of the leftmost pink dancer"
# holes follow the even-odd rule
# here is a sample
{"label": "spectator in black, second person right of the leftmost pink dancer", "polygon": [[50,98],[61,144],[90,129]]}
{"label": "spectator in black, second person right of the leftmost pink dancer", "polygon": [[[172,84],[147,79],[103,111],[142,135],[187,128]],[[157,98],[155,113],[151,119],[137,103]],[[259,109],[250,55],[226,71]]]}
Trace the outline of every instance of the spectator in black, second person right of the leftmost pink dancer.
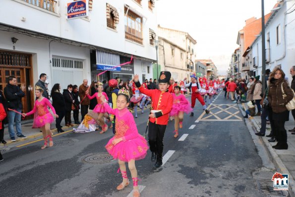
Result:
{"label": "spectator in black, second person right of the leftmost pink dancer", "polygon": [[72,104],[75,102],[72,91],[73,91],[73,85],[69,84],[67,86],[67,89],[64,89],[62,92],[64,102],[65,102],[64,122],[65,122],[65,126],[67,127],[74,126],[71,121]]}

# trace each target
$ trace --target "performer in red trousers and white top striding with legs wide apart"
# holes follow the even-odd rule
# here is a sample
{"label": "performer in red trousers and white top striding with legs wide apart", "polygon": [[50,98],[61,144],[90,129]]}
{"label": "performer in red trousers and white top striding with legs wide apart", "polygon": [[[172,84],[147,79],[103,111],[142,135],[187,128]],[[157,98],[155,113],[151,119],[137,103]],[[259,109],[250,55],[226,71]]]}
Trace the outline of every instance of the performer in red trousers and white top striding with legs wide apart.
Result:
{"label": "performer in red trousers and white top striding with legs wide apart", "polygon": [[[205,110],[206,114],[209,114],[210,111],[207,110],[207,106],[202,96],[200,95],[199,87],[198,87],[199,85],[197,82],[196,75],[194,74],[190,75],[190,79],[191,79],[191,82],[186,84],[186,78],[184,78],[184,85],[185,87],[189,87],[189,91],[191,92],[191,108],[195,107],[196,99],[198,99],[201,105],[203,106],[203,110]],[[193,112],[191,112],[189,116],[193,116]]]}

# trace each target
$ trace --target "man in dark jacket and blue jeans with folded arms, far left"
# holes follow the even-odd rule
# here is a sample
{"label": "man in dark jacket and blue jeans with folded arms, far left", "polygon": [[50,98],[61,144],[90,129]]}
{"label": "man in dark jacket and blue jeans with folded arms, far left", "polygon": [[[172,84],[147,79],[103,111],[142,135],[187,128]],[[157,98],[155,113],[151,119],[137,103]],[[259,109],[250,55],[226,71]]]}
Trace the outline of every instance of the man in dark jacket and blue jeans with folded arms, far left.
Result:
{"label": "man in dark jacket and blue jeans with folded arms, far left", "polygon": [[[21,113],[21,109],[22,109],[21,98],[25,96],[25,93],[21,91],[21,89],[17,86],[17,81],[15,76],[8,77],[8,84],[4,88],[4,95],[6,98],[7,108]],[[14,111],[9,110],[7,112],[7,117],[8,117],[8,132],[9,132],[11,141],[15,141],[15,136],[14,136],[15,133],[13,129],[14,121],[15,121],[17,136],[19,138],[24,138],[24,139],[27,138],[21,132],[21,125],[20,125],[21,115]]]}

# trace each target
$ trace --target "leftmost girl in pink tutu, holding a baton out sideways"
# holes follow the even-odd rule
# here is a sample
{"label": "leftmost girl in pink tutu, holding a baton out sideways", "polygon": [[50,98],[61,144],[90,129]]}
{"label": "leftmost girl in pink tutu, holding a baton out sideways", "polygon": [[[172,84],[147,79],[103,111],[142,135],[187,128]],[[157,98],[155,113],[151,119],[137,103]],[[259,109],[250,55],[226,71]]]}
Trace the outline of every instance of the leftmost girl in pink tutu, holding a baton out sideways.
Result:
{"label": "leftmost girl in pink tutu, holding a baton out sideways", "polygon": [[48,138],[49,138],[49,146],[53,146],[53,140],[52,140],[52,133],[50,131],[50,124],[54,121],[54,118],[52,114],[49,112],[48,107],[52,110],[54,116],[56,118],[59,118],[59,115],[56,114],[56,111],[50,101],[43,97],[43,89],[39,86],[35,86],[35,95],[38,98],[35,101],[35,105],[32,111],[28,113],[23,113],[23,116],[30,116],[34,113],[34,124],[37,128],[40,128],[43,134],[44,138],[44,145],[41,147],[41,149],[44,149],[48,145]]}

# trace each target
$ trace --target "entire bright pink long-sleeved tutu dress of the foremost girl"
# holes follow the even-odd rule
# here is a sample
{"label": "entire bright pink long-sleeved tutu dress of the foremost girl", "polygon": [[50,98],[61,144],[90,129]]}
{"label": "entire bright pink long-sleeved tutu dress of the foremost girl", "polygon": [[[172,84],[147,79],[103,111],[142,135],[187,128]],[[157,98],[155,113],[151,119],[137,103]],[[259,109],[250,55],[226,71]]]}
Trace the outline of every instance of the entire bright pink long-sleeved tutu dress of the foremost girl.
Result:
{"label": "entire bright pink long-sleeved tutu dress of the foremost girl", "polygon": [[[109,114],[116,116],[116,133],[105,146],[107,151],[114,159],[125,162],[131,159],[143,159],[149,147],[146,139],[138,133],[133,115],[127,108],[123,110],[112,109],[108,103],[105,103],[104,107]],[[113,145],[112,141],[120,137],[123,140]]]}

